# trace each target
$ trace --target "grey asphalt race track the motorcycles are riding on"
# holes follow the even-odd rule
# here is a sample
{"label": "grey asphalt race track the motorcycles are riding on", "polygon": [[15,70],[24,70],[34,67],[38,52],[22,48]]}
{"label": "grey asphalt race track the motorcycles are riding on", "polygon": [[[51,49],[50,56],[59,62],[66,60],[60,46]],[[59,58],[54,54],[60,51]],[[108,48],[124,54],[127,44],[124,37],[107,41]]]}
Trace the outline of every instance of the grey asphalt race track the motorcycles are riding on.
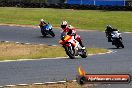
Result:
{"label": "grey asphalt race track the motorcycles are riding on", "polygon": [[[60,30],[56,37],[41,36],[38,28],[0,26],[0,41],[59,45]],[[111,54],[88,56],[86,59],[45,59],[34,61],[0,62],[0,85],[47,82],[76,79],[78,67],[87,73],[127,73],[132,75],[132,34],[123,33],[124,49],[115,49],[103,32],[78,31],[86,47],[101,47]],[[132,88],[130,84],[99,84],[94,88]]]}

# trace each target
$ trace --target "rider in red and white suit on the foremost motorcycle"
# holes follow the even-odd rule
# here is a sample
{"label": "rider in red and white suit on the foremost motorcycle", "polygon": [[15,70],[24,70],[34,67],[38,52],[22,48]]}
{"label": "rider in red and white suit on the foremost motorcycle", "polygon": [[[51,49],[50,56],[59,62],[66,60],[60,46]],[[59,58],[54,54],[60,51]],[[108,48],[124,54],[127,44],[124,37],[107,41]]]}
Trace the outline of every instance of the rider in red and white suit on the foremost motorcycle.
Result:
{"label": "rider in red and white suit on the foremost motorcycle", "polygon": [[81,40],[80,36],[76,32],[76,28],[74,28],[71,25],[68,25],[67,21],[62,21],[61,28],[65,34],[74,36],[75,40],[77,40],[79,42],[82,49],[85,49],[84,45],[82,44],[82,40]]}

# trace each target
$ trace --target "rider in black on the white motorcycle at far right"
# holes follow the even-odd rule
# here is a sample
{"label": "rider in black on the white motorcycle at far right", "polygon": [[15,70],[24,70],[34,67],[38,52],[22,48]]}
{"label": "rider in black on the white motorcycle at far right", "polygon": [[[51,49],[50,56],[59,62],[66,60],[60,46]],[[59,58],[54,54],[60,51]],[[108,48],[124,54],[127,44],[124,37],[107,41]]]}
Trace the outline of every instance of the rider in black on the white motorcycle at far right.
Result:
{"label": "rider in black on the white motorcycle at far right", "polygon": [[[108,38],[108,42],[112,42],[112,40],[111,40],[111,33],[113,32],[113,31],[118,31],[117,29],[115,29],[115,28],[112,28],[112,26],[111,25],[107,25],[106,26],[106,30],[105,30],[105,33],[106,33],[106,37]],[[119,32],[119,31],[118,31]]]}

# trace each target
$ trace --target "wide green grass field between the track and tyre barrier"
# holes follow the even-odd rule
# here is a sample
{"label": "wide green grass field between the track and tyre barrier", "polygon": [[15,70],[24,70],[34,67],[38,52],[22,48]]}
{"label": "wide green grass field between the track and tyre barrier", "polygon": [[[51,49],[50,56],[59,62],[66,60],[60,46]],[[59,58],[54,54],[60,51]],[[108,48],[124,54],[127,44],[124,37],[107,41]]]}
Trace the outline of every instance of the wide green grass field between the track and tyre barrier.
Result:
{"label": "wide green grass field between the track and tyre barrier", "polygon": [[52,8],[0,8],[0,23],[38,25],[44,18],[59,27],[62,20],[79,29],[103,31],[107,24],[132,32],[131,11],[72,10]]}

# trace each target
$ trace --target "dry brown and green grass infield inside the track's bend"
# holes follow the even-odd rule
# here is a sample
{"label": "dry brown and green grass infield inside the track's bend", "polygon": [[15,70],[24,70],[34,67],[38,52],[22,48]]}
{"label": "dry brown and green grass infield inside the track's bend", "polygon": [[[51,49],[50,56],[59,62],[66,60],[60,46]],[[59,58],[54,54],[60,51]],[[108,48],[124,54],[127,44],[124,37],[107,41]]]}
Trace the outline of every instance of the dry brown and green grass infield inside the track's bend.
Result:
{"label": "dry brown and green grass infield inside the track's bend", "polygon": [[[107,51],[107,49],[88,48],[89,54],[105,53]],[[25,45],[13,42],[0,43],[0,60],[55,58],[66,56],[67,55],[61,46]]]}

